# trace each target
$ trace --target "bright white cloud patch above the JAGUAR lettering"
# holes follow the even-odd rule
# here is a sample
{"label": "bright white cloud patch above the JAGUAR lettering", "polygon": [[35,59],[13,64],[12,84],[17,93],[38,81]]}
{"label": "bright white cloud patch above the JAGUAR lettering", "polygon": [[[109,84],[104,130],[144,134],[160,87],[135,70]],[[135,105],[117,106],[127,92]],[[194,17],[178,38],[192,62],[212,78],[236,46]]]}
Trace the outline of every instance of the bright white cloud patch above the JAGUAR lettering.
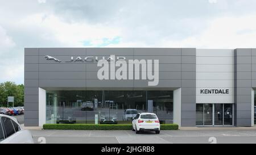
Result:
{"label": "bright white cloud patch above the JAGUAR lettering", "polygon": [[39,37],[55,40],[64,47],[84,47],[84,42],[90,41],[91,46],[102,43],[102,39],[113,39],[120,35],[118,27],[104,24],[88,24],[86,22],[67,23],[50,14],[34,14],[20,20],[23,27],[43,28],[47,33],[39,33]]}

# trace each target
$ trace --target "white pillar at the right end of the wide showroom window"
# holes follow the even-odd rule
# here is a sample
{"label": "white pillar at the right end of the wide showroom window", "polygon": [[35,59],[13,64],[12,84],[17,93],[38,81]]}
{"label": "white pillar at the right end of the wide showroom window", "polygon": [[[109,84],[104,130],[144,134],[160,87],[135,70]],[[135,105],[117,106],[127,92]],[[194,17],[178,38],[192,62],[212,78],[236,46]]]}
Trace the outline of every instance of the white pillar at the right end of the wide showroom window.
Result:
{"label": "white pillar at the right end of the wide showroom window", "polygon": [[174,123],[181,126],[181,88],[174,90]]}

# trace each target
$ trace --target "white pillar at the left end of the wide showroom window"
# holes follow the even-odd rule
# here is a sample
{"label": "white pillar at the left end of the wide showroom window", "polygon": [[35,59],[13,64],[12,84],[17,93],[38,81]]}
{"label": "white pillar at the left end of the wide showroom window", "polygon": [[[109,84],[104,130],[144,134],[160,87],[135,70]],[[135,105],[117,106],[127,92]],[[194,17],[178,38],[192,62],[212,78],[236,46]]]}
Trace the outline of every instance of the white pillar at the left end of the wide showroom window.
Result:
{"label": "white pillar at the left end of the wide showroom window", "polygon": [[39,87],[39,126],[46,124],[46,90]]}

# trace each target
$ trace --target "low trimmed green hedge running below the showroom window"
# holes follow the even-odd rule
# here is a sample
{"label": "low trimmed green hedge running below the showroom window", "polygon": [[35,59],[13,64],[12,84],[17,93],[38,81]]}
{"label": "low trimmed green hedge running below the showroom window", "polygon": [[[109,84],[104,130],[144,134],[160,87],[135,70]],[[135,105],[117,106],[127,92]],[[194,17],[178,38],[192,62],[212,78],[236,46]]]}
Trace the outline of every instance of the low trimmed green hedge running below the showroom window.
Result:
{"label": "low trimmed green hedge running below the showroom window", "polygon": [[[177,124],[161,124],[160,130],[176,130]],[[43,129],[131,130],[131,124],[44,124]]]}

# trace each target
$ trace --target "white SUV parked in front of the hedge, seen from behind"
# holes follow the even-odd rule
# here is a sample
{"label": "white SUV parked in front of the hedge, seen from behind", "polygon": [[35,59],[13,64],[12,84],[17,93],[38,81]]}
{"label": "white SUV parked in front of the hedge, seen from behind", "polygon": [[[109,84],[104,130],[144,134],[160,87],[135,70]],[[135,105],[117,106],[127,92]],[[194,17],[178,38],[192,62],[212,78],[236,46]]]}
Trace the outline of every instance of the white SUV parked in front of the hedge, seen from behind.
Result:
{"label": "white SUV parked in front of the hedge, seen from behind", "polygon": [[158,116],[154,113],[138,113],[132,124],[132,129],[133,131],[136,131],[137,134],[141,131],[155,131],[156,134],[160,133],[160,122],[158,120]]}

